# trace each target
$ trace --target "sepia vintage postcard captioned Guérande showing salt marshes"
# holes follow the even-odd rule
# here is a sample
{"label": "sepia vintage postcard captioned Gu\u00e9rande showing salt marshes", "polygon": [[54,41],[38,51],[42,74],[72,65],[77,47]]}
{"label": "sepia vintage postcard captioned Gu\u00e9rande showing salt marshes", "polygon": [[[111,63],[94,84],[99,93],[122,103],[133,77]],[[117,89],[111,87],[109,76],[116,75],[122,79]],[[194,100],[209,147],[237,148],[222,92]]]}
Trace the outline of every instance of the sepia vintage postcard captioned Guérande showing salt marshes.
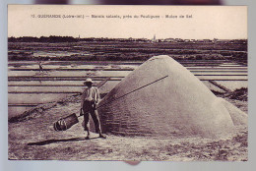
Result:
{"label": "sepia vintage postcard captioned Gu\u00e9rande showing salt marshes", "polygon": [[8,6],[10,160],[247,161],[246,6]]}

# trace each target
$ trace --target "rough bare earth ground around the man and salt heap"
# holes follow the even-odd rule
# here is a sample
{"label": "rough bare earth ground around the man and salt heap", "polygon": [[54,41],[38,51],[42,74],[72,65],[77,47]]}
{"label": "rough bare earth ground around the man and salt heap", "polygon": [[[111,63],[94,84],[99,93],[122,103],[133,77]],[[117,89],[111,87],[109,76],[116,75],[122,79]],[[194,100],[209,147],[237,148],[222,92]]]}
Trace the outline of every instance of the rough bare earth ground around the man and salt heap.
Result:
{"label": "rough bare earth ground around the man and salt heap", "polygon": [[[247,101],[226,98],[247,112]],[[53,123],[71,113],[79,114],[79,96],[35,107],[9,120],[9,159],[25,160],[170,160],[246,161],[247,128],[224,140],[201,138],[156,139],[106,135],[85,140],[82,121],[65,132]]]}

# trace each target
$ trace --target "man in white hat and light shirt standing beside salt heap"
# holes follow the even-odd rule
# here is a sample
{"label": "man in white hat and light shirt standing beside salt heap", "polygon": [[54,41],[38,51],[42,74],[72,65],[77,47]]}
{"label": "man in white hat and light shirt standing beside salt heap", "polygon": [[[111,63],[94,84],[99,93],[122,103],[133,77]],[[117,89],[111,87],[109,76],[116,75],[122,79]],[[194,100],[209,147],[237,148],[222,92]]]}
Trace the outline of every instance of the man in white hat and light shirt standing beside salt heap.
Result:
{"label": "man in white hat and light shirt standing beside salt heap", "polygon": [[92,79],[87,79],[84,85],[86,85],[86,88],[82,93],[80,116],[84,115],[85,131],[87,132],[86,140],[90,140],[89,114],[91,114],[94,120],[96,133],[99,134],[99,138],[105,139],[105,136],[101,133],[100,122],[96,111],[96,105],[100,100],[98,88],[93,86]]}

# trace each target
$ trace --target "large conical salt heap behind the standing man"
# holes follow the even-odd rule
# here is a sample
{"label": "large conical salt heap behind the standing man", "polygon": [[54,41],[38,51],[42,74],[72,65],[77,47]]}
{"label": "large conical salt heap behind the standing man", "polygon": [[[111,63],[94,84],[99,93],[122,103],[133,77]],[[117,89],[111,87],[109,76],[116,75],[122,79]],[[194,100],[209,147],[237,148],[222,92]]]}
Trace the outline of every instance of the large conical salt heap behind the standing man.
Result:
{"label": "large conical salt heap behind the standing man", "polygon": [[223,101],[169,56],[146,61],[98,106],[104,133],[216,138],[235,130]]}

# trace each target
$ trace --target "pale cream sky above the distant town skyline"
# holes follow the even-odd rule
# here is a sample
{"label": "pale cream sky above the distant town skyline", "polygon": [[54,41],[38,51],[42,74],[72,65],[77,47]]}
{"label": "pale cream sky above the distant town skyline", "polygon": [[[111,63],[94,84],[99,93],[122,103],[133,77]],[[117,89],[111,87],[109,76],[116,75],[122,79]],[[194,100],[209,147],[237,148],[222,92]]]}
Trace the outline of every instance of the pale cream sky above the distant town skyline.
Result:
{"label": "pale cream sky above the distant town skyline", "polygon": [[[34,18],[32,18],[34,15]],[[38,15],[84,15],[85,19],[38,18]],[[100,19],[92,15],[160,16],[160,19]],[[165,15],[183,19],[165,18]],[[186,18],[192,15],[192,18]],[[247,8],[242,6],[43,6],[8,7],[8,36],[62,35],[115,38],[247,38]]]}

